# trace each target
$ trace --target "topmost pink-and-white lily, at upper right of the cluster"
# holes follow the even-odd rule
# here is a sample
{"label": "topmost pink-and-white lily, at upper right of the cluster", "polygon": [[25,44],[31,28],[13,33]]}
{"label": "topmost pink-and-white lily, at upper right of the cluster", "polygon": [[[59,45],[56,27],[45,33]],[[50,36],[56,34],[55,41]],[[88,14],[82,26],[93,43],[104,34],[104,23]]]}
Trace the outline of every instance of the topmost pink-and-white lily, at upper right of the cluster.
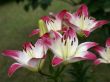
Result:
{"label": "topmost pink-and-white lily, at upper right of the cluster", "polygon": [[67,12],[66,21],[69,25],[73,25],[73,28],[79,35],[85,35],[86,37],[88,37],[95,29],[108,23],[106,20],[96,21],[95,18],[89,17],[88,8],[85,4],[82,4],[81,7],[73,14]]}

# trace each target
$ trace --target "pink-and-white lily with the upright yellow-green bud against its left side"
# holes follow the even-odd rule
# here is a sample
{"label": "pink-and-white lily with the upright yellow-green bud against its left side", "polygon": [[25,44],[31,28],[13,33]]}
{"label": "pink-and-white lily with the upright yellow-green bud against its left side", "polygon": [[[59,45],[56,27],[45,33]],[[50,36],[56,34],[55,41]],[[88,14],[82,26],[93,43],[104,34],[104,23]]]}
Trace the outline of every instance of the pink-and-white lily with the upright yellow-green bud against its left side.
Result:
{"label": "pink-and-white lily with the upright yellow-green bud against its left side", "polygon": [[51,16],[43,16],[39,20],[39,29],[34,29],[29,37],[40,33],[40,36],[43,34],[53,31],[61,31],[63,28],[63,18],[66,14],[66,10],[62,10],[60,13]]}

